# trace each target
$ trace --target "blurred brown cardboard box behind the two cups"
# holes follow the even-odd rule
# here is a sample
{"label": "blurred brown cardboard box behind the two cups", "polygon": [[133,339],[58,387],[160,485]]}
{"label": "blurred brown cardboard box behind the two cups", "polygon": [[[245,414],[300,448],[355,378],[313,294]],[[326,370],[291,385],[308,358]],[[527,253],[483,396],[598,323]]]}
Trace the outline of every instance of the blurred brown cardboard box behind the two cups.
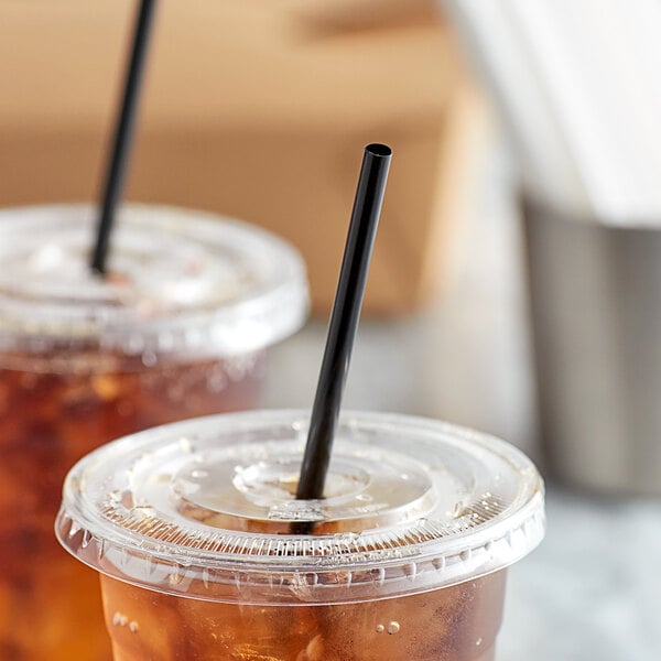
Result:
{"label": "blurred brown cardboard box behind the two cups", "polygon": [[[0,205],[96,199],[137,2],[0,8]],[[159,3],[127,197],[204,208],[296,245],[335,292],[366,143],[393,148],[366,312],[438,281],[474,109],[429,2]]]}

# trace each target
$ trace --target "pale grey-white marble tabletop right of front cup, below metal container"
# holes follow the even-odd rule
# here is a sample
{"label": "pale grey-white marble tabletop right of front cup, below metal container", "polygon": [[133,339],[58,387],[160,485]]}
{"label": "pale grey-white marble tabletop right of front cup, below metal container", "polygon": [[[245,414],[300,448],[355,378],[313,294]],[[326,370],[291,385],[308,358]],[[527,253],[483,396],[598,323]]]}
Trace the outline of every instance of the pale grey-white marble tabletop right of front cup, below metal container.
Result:
{"label": "pale grey-white marble tabletop right of front cup, below metal container", "polygon": [[661,659],[661,502],[550,489],[548,521],[510,572],[499,659]]}

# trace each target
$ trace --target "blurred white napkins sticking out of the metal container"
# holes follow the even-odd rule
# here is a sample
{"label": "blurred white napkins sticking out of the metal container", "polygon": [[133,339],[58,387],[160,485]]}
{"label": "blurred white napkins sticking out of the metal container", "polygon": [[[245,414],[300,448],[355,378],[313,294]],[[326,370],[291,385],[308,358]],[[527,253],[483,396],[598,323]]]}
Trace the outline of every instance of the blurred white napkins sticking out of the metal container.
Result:
{"label": "blurred white napkins sticking out of the metal container", "polygon": [[661,225],[661,3],[444,0],[528,191],[609,225]]}

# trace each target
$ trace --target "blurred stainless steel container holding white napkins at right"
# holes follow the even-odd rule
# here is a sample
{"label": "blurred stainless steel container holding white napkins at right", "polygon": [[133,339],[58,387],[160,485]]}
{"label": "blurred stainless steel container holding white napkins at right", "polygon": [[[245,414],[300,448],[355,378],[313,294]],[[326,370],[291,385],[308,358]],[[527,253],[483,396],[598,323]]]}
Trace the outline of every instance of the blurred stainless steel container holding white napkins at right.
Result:
{"label": "blurred stainless steel container holding white napkins at right", "polygon": [[549,472],[661,495],[661,227],[521,206]]}

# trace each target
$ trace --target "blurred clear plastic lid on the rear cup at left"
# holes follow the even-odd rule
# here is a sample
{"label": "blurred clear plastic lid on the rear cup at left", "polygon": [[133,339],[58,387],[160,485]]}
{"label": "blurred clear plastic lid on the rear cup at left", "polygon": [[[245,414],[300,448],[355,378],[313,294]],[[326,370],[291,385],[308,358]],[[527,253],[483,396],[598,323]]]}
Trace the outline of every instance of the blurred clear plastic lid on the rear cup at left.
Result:
{"label": "blurred clear plastic lid on the rear cup at left", "polygon": [[88,205],[0,212],[0,347],[100,344],[123,353],[236,355],[296,330],[307,313],[299,253],[257,227],[201,212],[129,205],[106,278],[89,256]]}

